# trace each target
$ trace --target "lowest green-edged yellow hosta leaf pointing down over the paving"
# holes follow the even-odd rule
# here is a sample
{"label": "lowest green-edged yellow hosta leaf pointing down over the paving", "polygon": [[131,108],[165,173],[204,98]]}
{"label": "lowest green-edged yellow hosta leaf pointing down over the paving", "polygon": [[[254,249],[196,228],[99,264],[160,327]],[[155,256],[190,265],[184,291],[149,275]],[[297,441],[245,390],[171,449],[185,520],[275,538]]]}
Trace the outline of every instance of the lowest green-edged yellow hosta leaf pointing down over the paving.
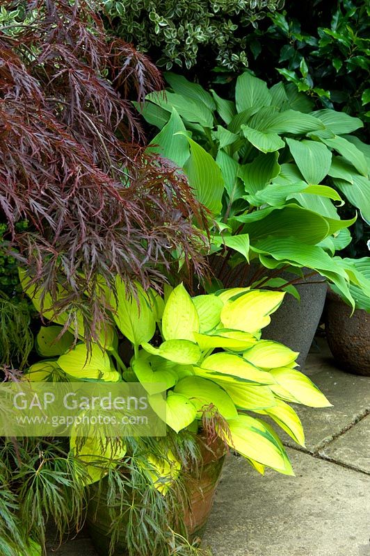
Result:
{"label": "lowest green-edged yellow hosta leaf pointing down over the paving", "polygon": [[280,473],[293,475],[287,465],[287,454],[271,434],[268,425],[248,415],[239,415],[228,422],[230,439],[228,443],[241,455],[255,459],[262,465],[272,467]]}

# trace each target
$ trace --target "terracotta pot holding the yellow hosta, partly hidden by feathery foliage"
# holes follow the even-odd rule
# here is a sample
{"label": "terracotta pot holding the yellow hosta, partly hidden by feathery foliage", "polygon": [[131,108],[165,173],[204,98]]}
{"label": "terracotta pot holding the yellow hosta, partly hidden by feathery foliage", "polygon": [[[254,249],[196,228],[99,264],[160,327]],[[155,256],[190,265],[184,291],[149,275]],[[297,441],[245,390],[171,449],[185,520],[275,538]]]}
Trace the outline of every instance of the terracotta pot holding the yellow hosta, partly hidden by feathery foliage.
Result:
{"label": "terracotta pot holding the yellow hosta, partly hidden by feathery foliage", "polygon": [[[200,465],[198,473],[195,473],[195,471],[190,473],[188,491],[191,509],[186,511],[184,515],[184,523],[190,539],[202,537],[204,533],[225,460],[225,447],[223,443],[214,443],[214,445],[211,445],[211,450],[207,450],[202,443],[200,443],[200,447],[202,465]],[[97,483],[90,485],[90,495],[86,523],[97,553],[101,556],[107,556],[111,540],[109,535],[111,521],[106,502],[105,480],[100,485],[100,489]],[[120,505],[119,500],[117,505]],[[127,555],[125,539],[126,530],[124,525],[122,525],[122,531],[120,532],[113,556]]]}

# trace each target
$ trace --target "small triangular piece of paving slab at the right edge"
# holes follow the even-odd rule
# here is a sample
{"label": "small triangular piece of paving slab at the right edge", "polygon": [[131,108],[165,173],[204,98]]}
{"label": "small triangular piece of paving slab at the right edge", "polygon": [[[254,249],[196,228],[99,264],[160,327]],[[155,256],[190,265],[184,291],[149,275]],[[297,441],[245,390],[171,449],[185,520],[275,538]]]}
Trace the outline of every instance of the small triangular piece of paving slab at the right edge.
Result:
{"label": "small triangular piece of paving slab at the right edge", "polygon": [[325,446],[319,454],[370,475],[370,415]]}

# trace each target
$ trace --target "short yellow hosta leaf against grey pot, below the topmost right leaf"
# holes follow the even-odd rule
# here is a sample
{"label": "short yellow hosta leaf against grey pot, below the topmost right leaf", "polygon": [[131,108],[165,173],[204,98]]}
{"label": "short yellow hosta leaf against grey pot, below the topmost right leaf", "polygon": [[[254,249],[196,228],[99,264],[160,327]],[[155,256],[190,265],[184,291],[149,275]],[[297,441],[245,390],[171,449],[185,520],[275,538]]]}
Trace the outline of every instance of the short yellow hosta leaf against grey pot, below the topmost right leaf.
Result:
{"label": "short yellow hosta leaf against grey pot, below the topmost right leaf", "polygon": [[271,340],[260,340],[243,353],[244,359],[264,369],[288,366],[298,355],[282,343]]}

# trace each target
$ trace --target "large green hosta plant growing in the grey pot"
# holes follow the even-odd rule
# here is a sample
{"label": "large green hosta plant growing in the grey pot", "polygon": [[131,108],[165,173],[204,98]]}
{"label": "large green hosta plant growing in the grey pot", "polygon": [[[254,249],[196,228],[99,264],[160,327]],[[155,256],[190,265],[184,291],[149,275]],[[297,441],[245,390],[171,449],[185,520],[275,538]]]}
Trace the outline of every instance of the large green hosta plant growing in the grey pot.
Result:
{"label": "large green hosta plant growing in the grey pot", "polygon": [[[235,101],[179,75],[166,79],[166,94],[150,93],[139,107],[161,129],[148,148],[182,167],[209,208],[212,252],[226,248],[233,266],[259,261],[257,285],[266,284],[264,268],[308,267],[353,307],[351,284],[369,297],[362,272],[335,255],[351,242],[356,218],[341,220],[337,206],[348,199],[370,220],[370,146],[352,135],[361,120],[312,111],[295,85],[268,89],[248,72],[236,81]],[[282,286],[272,274],[270,285]]]}

